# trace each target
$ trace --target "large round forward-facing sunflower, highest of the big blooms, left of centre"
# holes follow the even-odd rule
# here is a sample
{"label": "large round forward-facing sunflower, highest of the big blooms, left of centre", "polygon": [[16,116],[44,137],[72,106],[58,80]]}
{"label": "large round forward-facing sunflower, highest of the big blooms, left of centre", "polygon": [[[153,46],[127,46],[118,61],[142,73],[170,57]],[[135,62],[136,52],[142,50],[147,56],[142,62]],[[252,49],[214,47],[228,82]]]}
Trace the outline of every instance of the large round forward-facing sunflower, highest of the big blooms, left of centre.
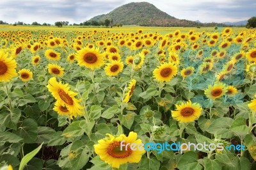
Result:
{"label": "large round forward-facing sunflower, highest of the big blooms, left of centre", "polygon": [[104,56],[100,54],[99,49],[85,47],[77,52],[76,58],[79,66],[85,66],[92,70],[104,65]]}

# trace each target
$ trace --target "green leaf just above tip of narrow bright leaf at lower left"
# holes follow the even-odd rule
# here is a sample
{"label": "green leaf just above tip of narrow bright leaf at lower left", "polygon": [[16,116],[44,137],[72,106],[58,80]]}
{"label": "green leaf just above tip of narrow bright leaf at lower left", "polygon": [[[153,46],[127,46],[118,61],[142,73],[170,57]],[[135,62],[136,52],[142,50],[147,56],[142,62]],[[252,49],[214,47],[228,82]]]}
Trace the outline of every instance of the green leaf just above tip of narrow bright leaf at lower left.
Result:
{"label": "green leaf just above tip of narrow bright leaf at lower left", "polygon": [[52,138],[52,135],[55,134],[55,130],[50,127],[38,127],[38,134],[36,143],[48,143],[48,141]]}

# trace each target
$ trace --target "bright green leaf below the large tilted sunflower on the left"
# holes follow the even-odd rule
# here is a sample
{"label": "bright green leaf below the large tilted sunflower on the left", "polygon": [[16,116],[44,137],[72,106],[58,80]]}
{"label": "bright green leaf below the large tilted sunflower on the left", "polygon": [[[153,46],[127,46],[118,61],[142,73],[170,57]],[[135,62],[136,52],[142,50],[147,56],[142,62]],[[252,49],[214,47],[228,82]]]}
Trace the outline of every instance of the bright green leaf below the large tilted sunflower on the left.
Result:
{"label": "bright green leaf below the large tilted sunflower on the left", "polygon": [[79,120],[72,122],[65,130],[63,130],[62,136],[65,137],[77,137],[84,134],[87,127],[85,120]]}

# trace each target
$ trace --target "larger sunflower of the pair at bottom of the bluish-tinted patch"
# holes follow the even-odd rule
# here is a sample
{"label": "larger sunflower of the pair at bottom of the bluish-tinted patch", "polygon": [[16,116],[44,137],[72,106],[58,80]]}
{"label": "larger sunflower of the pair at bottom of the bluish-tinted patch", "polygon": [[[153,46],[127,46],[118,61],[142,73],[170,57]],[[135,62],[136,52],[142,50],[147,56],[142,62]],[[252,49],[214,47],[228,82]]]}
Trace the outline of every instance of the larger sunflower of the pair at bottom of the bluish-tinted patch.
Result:
{"label": "larger sunflower of the pair at bottom of the bluish-tinted patch", "polygon": [[228,91],[228,88],[222,82],[215,82],[214,85],[209,85],[207,89],[205,89],[204,93],[206,97],[215,100],[216,98],[220,98]]}

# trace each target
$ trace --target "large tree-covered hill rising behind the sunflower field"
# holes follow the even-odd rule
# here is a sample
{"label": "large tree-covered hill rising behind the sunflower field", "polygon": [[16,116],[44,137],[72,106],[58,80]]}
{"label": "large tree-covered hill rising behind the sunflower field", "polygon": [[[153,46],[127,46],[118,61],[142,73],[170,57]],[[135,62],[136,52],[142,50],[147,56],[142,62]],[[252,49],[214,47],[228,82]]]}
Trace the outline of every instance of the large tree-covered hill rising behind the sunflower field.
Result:
{"label": "large tree-covered hill rising behind the sunflower field", "polygon": [[162,12],[150,3],[128,3],[115,10],[98,15],[88,20],[99,22],[113,19],[113,24],[137,25],[137,26],[202,26],[202,24],[191,20],[180,20]]}

